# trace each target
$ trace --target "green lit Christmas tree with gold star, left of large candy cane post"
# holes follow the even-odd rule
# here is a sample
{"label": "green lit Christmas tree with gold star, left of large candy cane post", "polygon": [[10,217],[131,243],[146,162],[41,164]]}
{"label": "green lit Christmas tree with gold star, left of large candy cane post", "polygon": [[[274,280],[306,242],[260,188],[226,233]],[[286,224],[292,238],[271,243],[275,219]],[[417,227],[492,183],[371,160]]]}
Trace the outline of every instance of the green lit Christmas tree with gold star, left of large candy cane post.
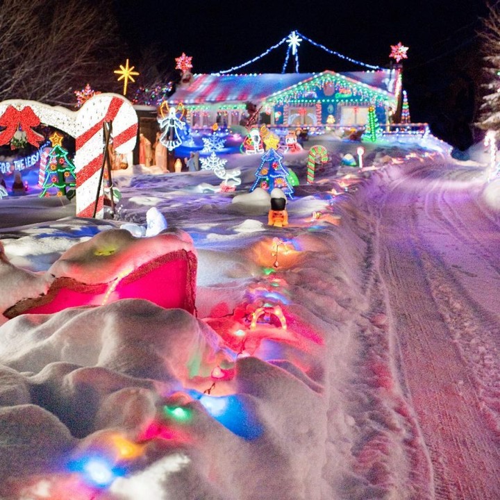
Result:
{"label": "green lit Christmas tree with gold star, left of large candy cane post", "polygon": [[54,132],[49,139],[52,149],[47,158],[45,181],[42,185],[40,198],[49,197],[49,190],[55,190],[57,196],[72,199],[76,186],[74,163],[69,159],[68,151],[63,148],[63,135]]}

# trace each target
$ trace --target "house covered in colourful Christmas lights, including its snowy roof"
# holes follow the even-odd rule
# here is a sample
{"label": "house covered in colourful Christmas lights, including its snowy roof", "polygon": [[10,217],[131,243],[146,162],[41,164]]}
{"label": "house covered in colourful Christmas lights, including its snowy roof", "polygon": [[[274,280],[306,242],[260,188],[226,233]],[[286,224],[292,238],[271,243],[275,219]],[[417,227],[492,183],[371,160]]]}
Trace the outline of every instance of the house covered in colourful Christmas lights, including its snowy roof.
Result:
{"label": "house covered in colourful Christmas lights, including its snowy roof", "polygon": [[401,69],[288,74],[195,74],[168,98],[183,103],[193,128],[242,124],[247,103],[272,126],[363,126],[374,106],[378,122],[400,108]]}

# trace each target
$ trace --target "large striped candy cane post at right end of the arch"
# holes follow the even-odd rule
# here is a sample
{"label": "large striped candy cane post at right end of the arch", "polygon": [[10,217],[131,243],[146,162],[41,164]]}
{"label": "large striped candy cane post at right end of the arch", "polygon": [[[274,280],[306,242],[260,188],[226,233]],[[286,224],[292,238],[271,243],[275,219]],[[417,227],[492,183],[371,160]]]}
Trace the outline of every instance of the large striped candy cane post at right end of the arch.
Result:
{"label": "large striped candy cane post at right end of the arch", "polygon": [[[130,101],[118,94],[97,94],[76,116],[76,216],[92,217],[103,162],[103,123],[113,122],[113,148],[128,153],[135,147],[138,117]],[[103,218],[103,186],[96,217]]]}

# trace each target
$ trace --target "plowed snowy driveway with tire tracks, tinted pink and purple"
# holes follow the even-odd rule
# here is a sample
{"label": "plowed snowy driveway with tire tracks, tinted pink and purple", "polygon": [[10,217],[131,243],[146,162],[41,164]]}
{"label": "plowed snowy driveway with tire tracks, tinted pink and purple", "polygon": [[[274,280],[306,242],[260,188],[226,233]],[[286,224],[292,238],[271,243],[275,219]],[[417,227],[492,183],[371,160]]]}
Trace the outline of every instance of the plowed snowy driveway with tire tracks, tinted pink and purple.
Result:
{"label": "plowed snowy driveway with tire tracks, tinted pink and purple", "polygon": [[[500,224],[474,167],[417,165],[372,188],[374,266],[436,499],[500,498]],[[373,288],[373,287],[372,287]],[[433,483],[433,485],[432,485]]]}

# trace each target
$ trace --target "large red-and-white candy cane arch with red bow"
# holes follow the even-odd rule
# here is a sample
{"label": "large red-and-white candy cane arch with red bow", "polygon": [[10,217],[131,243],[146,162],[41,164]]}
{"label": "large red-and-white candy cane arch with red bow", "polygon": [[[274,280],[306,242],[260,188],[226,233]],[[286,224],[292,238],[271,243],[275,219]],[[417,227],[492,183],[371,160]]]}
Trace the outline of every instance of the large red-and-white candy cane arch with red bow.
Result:
{"label": "large red-and-white candy cane arch with red bow", "polygon": [[[0,103],[0,144],[7,144],[19,126],[30,144],[44,140],[33,130],[45,124],[76,139],[76,215],[92,217],[103,160],[103,123],[113,122],[113,147],[117,153],[129,153],[135,147],[138,117],[132,104],[119,94],[97,94],[78,110],[48,106],[37,101],[9,99]],[[103,192],[97,203],[96,217],[103,217]]]}

